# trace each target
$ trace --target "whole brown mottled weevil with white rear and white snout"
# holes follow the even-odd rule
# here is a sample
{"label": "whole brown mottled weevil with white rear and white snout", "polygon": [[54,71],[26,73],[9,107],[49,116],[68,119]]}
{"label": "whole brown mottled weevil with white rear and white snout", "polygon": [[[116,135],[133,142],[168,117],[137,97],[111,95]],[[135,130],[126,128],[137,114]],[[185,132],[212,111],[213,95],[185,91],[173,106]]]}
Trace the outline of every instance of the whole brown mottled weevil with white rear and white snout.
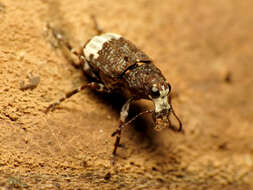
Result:
{"label": "whole brown mottled weevil with white rear and white snout", "polygon": [[[59,40],[62,39],[61,35],[55,36]],[[70,51],[73,50],[69,43],[65,42],[64,45]],[[120,111],[118,129],[112,134],[116,135],[113,157],[120,146],[122,128],[143,114],[152,113],[155,130],[166,127],[175,131],[182,130],[182,123],[171,104],[171,85],[153,61],[132,42],[119,34],[99,33],[86,42],[81,53],[74,53],[79,57],[81,68],[91,82],[68,92],[63,98],[49,105],[46,112],[86,88],[99,92],[118,91],[128,94],[128,100]],[[151,100],[154,110],[143,111],[127,121],[130,104],[139,99]],[[177,128],[170,122],[171,113],[178,121]]]}

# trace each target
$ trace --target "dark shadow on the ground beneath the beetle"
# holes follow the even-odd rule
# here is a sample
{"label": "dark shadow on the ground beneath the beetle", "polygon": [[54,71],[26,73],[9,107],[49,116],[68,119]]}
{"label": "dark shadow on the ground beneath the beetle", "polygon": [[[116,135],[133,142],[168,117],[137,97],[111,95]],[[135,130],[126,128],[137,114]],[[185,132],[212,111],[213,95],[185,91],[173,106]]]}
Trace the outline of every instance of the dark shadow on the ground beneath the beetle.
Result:
{"label": "dark shadow on the ground beneath the beetle", "polygon": [[[99,93],[92,89],[87,89],[89,94],[97,100],[102,101],[105,105],[110,105],[115,113],[120,113],[122,106],[124,105],[126,98],[121,96],[120,93]],[[117,100],[117,101],[115,101]],[[115,103],[117,102],[117,103]],[[147,110],[146,106],[140,102],[135,102],[131,105],[129,110],[128,120],[136,116],[138,113]],[[142,149],[147,153],[154,151],[163,151],[161,149],[161,141],[159,140],[161,135],[158,134],[153,129],[153,122],[151,115],[143,115],[142,117],[138,117],[131,124],[127,125],[123,129],[123,133],[126,133],[127,140],[131,141],[134,145],[136,145],[137,149]],[[116,129],[117,126],[115,126]],[[166,129],[164,129],[166,130]],[[113,130],[114,131],[114,130]],[[113,132],[112,131],[112,132]],[[124,141],[120,145],[123,149],[131,148],[132,145],[125,145]],[[160,147],[160,148],[158,148]],[[167,151],[167,150],[166,150]]]}

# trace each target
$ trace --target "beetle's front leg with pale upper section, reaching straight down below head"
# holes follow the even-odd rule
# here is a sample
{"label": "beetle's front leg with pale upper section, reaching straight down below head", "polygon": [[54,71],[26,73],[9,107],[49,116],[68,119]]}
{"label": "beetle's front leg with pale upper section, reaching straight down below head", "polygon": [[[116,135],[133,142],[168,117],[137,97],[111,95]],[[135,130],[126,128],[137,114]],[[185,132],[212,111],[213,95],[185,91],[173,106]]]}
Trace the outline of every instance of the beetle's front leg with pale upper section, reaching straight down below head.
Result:
{"label": "beetle's front leg with pale upper section, reaching straight down below head", "polygon": [[121,135],[121,128],[124,125],[126,118],[128,116],[128,112],[129,112],[129,107],[130,104],[134,101],[134,97],[130,98],[127,100],[127,102],[123,105],[123,107],[121,108],[120,111],[120,123],[119,123],[119,127],[118,129],[112,134],[112,136],[117,135],[116,136],[116,140],[114,143],[114,149],[112,152],[112,164],[114,164],[114,157],[116,155],[117,152],[117,148],[120,146],[120,135]]}

